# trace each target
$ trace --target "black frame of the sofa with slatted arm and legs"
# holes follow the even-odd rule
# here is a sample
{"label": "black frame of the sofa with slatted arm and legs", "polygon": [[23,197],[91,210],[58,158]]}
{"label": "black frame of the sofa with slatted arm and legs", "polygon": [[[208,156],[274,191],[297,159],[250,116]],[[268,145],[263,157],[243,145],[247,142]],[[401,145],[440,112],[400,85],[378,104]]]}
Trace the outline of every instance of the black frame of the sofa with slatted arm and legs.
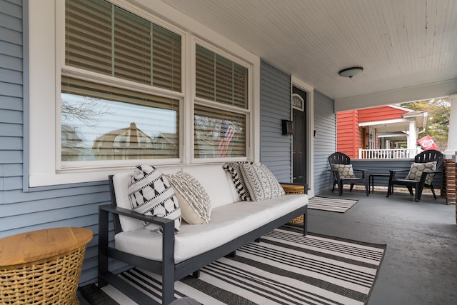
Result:
{"label": "black frame of the sofa with slatted arm and legs", "polygon": [[[241,246],[248,244],[251,241],[259,241],[263,234],[278,228],[279,226],[286,224],[291,219],[303,215],[303,236],[308,234],[308,206],[304,206],[300,209],[296,209],[291,213],[271,221],[270,223],[258,227],[248,234],[239,236],[228,243],[216,247],[210,251],[206,251],[204,254],[194,256],[191,259],[182,261],[179,264],[174,263],[174,221],[170,219],[164,219],[156,216],[144,216],[143,214],[136,213],[129,209],[122,209],[116,205],[116,196],[114,192],[113,176],[109,176],[109,188],[111,193],[111,205],[99,206],[99,287],[111,284],[116,289],[124,293],[130,299],[134,300],[138,304],[159,304],[158,302],[151,299],[148,295],[144,294],[139,289],[131,286],[120,279],[112,271],[109,271],[109,260],[115,259],[122,261],[131,266],[137,266],[141,269],[145,269],[155,274],[162,276],[162,299],[161,304],[169,304],[174,301],[174,282],[179,279],[193,274],[199,276],[199,270],[210,264],[216,259],[219,259],[226,255],[235,255],[236,249]],[[129,216],[134,219],[140,219],[149,221],[154,224],[162,226],[164,233],[162,239],[162,261],[153,261],[151,259],[145,259],[140,256],[128,254],[116,250],[114,246],[109,245],[110,229],[110,217],[112,214],[114,221],[115,234],[121,231],[121,224],[119,222],[119,215]]]}

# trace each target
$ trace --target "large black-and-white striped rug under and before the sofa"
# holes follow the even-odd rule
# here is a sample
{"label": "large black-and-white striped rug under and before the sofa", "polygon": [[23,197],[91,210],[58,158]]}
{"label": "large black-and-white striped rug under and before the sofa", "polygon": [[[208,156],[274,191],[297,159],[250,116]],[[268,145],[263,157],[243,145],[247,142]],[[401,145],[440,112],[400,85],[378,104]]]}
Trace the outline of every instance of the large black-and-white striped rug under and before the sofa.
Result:
{"label": "large black-and-white striped rug under and before the sofa", "polygon": [[[282,226],[175,283],[175,296],[201,304],[366,304],[385,245],[364,244]],[[159,301],[160,276],[120,274]],[[108,292],[109,293],[109,292]],[[122,301],[121,304],[126,304]]]}

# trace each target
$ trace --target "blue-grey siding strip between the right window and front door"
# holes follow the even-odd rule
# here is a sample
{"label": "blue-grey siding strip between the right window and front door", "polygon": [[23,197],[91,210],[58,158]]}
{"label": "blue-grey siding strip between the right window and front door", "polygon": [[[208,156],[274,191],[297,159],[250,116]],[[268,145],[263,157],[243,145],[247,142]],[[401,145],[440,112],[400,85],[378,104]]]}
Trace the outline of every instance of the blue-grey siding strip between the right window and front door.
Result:
{"label": "blue-grey siding strip between the right window and front door", "polygon": [[283,136],[281,120],[291,119],[291,76],[261,61],[260,161],[276,179],[291,181],[291,136]]}

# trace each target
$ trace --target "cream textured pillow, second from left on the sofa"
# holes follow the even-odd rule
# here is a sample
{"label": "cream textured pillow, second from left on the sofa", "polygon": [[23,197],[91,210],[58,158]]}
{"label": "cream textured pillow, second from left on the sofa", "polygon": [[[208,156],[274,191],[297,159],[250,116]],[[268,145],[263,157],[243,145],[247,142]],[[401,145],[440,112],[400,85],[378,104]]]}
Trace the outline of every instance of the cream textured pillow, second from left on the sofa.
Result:
{"label": "cream textured pillow, second from left on the sofa", "polygon": [[185,171],[179,171],[167,177],[176,190],[183,219],[188,224],[208,224],[211,216],[211,201],[200,182]]}

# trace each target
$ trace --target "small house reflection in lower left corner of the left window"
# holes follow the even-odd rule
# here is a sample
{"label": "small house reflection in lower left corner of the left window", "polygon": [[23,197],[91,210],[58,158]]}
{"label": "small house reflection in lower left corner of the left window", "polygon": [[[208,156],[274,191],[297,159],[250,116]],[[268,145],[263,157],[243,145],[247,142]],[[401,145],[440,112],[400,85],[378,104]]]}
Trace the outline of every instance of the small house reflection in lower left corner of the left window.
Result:
{"label": "small house reflection in lower left corner of the left window", "polygon": [[84,141],[76,134],[74,127],[61,126],[61,160],[84,161],[90,159],[91,151],[84,148]]}

